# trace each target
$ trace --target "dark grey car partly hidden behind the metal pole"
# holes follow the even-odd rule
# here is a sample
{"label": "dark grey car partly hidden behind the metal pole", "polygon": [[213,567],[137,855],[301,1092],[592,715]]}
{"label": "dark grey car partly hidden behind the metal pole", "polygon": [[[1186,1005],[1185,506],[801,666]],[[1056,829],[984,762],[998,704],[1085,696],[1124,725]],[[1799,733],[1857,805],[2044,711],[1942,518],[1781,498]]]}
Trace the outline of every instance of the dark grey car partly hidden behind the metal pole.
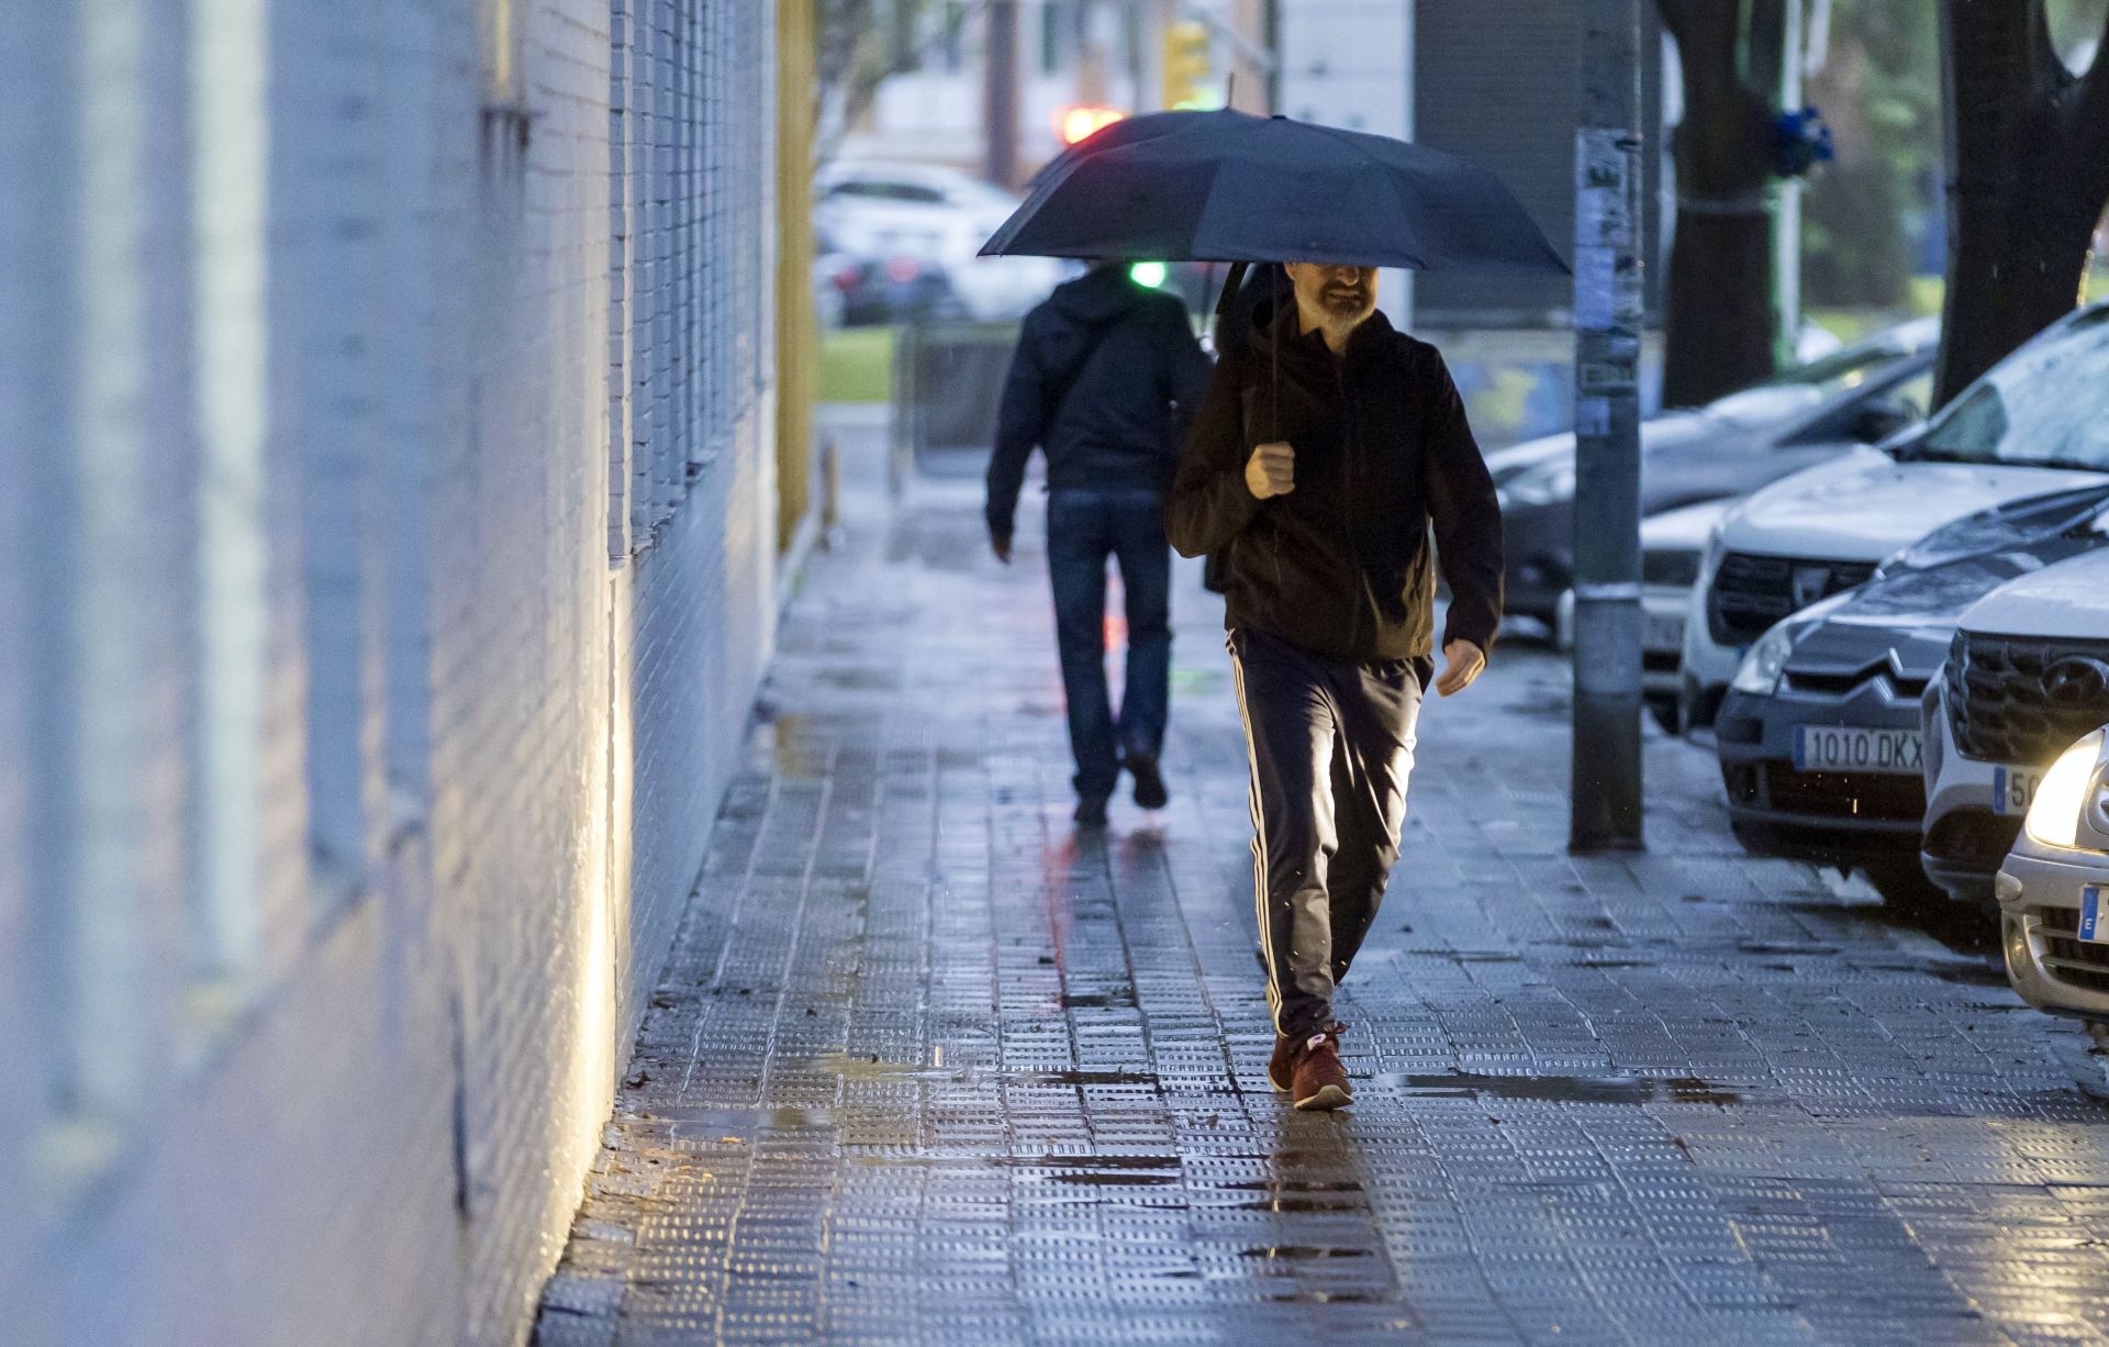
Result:
{"label": "dark grey car partly hidden behind the metal pole", "polygon": [[[1641,514],[1748,495],[1926,419],[1940,323],[1921,318],[1641,424]],[[1575,436],[1487,455],[1502,495],[1506,607],[1552,622],[1573,586]]]}

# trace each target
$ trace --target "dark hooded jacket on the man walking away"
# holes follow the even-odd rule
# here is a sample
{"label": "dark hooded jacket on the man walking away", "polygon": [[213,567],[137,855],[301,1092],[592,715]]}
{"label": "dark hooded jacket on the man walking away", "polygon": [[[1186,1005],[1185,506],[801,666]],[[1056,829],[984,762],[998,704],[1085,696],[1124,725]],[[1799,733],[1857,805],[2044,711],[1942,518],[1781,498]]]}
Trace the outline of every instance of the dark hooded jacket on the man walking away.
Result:
{"label": "dark hooded jacket on the man walking away", "polygon": [[1177,297],[1135,285],[1120,266],[1057,287],[1025,316],[1004,379],[989,533],[1010,538],[1033,445],[1048,455],[1050,489],[1164,491],[1183,417],[1206,386],[1208,356]]}

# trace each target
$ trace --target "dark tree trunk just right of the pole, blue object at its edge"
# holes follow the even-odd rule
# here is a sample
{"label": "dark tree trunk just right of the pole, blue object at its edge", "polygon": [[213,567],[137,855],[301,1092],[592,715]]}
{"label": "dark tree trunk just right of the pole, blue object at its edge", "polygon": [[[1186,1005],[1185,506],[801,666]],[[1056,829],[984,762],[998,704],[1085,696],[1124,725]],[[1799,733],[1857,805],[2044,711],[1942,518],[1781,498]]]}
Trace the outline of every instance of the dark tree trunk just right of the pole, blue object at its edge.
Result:
{"label": "dark tree trunk just right of the pole, blue object at its edge", "polygon": [[[1677,158],[1677,238],[1662,341],[1662,405],[1696,407],[1774,371],[1772,97],[1744,80],[1742,0],[1656,0],[1677,38],[1685,118]],[[1780,0],[1755,0],[1753,34]],[[1769,61],[1778,67],[1778,61]]]}

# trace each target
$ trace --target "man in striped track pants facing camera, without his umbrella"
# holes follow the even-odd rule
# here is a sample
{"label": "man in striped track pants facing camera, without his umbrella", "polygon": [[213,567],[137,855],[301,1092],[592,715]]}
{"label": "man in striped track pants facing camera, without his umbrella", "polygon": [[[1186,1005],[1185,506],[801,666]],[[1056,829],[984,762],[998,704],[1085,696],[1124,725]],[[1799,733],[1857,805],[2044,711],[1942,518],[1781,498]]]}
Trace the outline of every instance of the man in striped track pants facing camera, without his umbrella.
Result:
{"label": "man in striped track pants facing camera, without his umbrella", "polygon": [[1337,1109],[1354,1092],[1333,991],[1398,860],[1436,571],[1451,603],[1434,689],[1451,696],[1502,622],[1502,512],[1443,356],[1377,312],[1375,268],[1286,274],[1280,312],[1223,344],[1166,525],[1185,557],[1227,548],[1268,1079],[1297,1109]]}

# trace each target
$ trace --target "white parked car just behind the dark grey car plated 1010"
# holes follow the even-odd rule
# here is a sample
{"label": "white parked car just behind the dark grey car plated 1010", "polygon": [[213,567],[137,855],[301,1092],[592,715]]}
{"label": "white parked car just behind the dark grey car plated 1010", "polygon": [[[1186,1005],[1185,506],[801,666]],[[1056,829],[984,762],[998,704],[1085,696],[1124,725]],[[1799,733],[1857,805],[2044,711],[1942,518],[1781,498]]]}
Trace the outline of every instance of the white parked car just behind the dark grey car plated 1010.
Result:
{"label": "white parked car just behind the dark grey car plated 1010", "polygon": [[2109,304],[2052,323],[1932,422],[1757,491],[1706,546],[1681,717],[1713,725],[1750,643],[1944,523],[2109,476]]}

